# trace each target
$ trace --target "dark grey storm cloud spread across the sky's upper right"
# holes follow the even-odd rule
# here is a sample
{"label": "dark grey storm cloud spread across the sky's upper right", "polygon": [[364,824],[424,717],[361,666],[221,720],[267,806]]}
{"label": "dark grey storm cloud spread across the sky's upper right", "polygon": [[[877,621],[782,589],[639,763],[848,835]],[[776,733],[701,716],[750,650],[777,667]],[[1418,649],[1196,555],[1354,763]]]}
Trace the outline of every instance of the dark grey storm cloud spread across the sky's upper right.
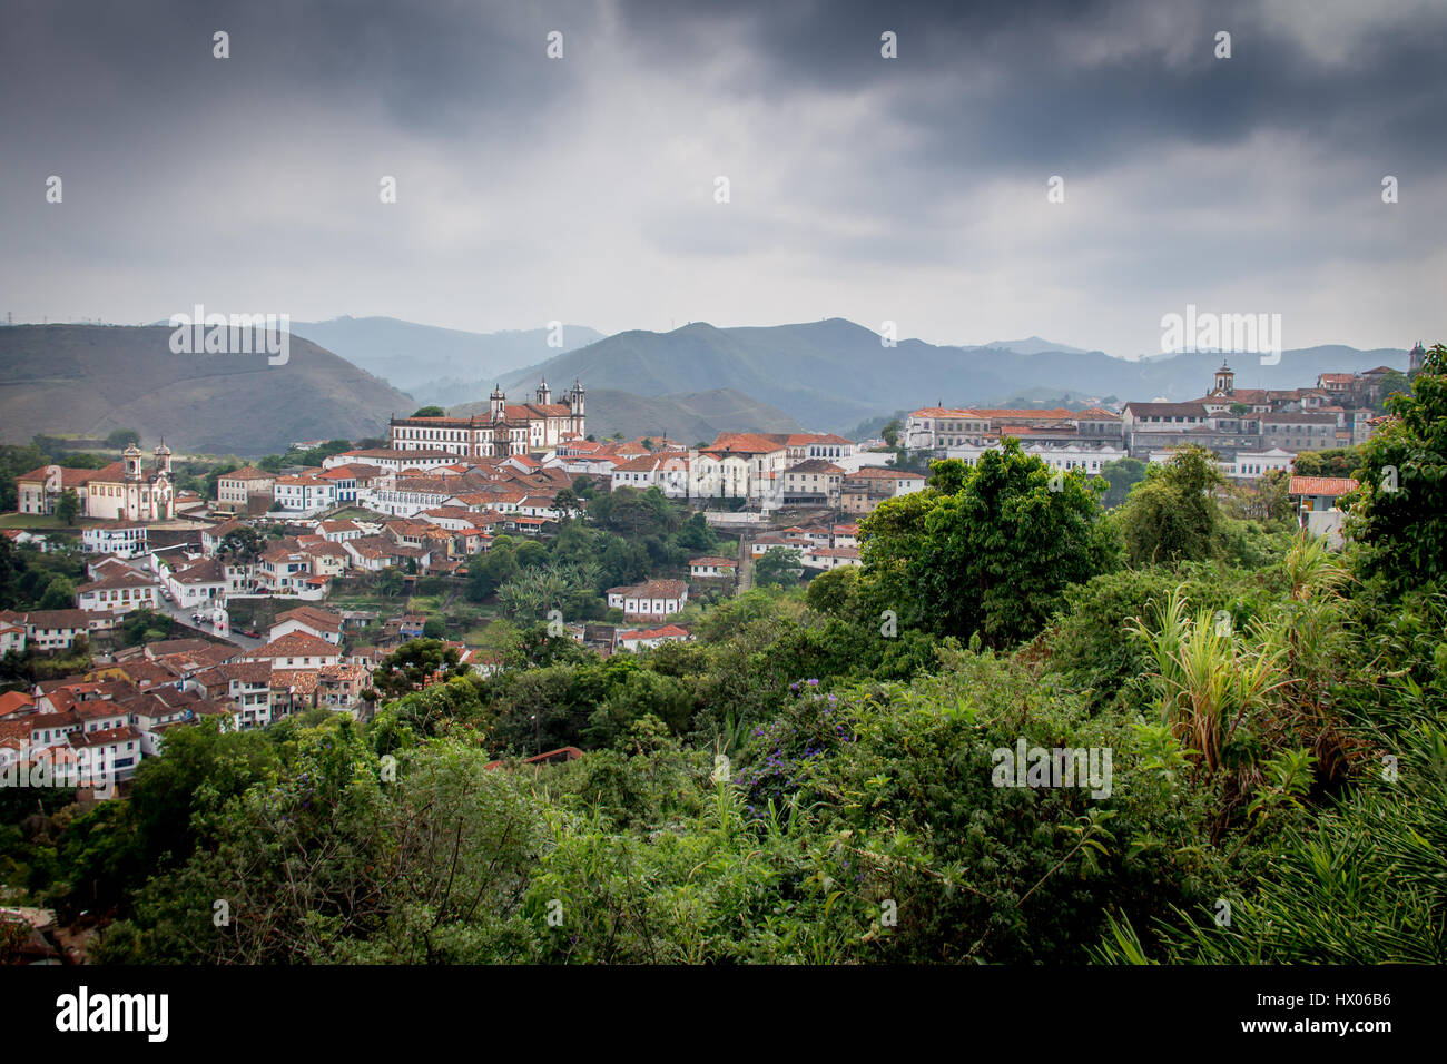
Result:
{"label": "dark grey storm cloud spread across the sky's upper right", "polygon": [[[1299,19],[1273,22],[1243,0],[624,4],[632,32],[679,71],[721,39],[752,56],[731,91],[886,93],[891,120],[925,133],[919,162],[1092,168],[1260,129],[1350,135],[1356,149],[1441,162],[1447,85],[1431,72],[1447,46],[1447,4],[1353,23],[1344,62],[1308,45],[1311,22],[1333,7],[1304,4]],[[880,58],[883,30],[899,35],[897,61]],[[1231,33],[1229,61],[1215,58],[1217,30]]]}

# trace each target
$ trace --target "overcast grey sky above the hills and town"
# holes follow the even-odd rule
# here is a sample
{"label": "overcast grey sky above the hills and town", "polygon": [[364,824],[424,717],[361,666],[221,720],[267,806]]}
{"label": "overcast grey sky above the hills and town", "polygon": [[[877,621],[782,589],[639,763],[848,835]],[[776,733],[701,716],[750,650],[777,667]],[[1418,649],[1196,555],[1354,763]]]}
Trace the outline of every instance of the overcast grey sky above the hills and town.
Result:
{"label": "overcast grey sky above the hills and town", "polygon": [[1444,52],[1443,0],[9,0],[0,317],[1430,345]]}

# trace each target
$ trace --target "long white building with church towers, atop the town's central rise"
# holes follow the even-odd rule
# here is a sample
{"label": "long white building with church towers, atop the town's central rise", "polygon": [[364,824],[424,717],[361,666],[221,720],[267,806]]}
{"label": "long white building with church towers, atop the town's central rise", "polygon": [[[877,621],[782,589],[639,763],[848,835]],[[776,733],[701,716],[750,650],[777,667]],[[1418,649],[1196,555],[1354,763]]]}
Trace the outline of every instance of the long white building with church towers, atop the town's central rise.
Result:
{"label": "long white building with church towers, atop the town's central rise", "polygon": [[446,450],[459,457],[508,457],[551,450],[587,433],[583,385],[576,379],[553,402],[544,378],[534,402],[508,402],[502,387],[492,389],[486,414],[470,417],[392,417],[392,450]]}

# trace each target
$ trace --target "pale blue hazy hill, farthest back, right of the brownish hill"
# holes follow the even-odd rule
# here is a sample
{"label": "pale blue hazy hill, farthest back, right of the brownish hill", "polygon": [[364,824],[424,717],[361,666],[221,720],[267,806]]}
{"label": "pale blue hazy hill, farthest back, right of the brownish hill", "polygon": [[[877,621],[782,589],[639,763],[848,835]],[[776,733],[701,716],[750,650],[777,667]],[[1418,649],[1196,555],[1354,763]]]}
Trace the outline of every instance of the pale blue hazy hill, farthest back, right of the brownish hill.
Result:
{"label": "pale blue hazy hill, farthest back, right of the brownish hill", "polygon": [[485,385],[492,391],[502,373],[603,337],[586,326],[563,326],[563,346],[548,347],[547,329],[466,333],[391,317],[295,321],[291,332],[386,379],[423,404],[443,405],[454,400],[459,389],[473,392]]}

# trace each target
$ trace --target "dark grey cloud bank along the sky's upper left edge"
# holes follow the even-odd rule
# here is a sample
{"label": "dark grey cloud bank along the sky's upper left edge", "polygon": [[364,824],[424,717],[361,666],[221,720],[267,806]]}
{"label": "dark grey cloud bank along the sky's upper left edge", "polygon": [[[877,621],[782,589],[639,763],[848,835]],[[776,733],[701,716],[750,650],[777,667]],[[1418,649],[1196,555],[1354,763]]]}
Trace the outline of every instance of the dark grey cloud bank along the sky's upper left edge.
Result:
{"label": "dark grey cloud bank along the sky's upper left edge", "polygon": [[[547,12],[579,42],[596,20],[583,3]],[[0,36],[0,83],[38,135],[61,122],[164,122],[245,98],[378,106],[398,124],[456,135],[544,114],[573,90],[582,49],[572,67],[537,62],[543,14],[472,3],[25,3]],[[211,54],[217,30],[230,35],[226,64]]]}

